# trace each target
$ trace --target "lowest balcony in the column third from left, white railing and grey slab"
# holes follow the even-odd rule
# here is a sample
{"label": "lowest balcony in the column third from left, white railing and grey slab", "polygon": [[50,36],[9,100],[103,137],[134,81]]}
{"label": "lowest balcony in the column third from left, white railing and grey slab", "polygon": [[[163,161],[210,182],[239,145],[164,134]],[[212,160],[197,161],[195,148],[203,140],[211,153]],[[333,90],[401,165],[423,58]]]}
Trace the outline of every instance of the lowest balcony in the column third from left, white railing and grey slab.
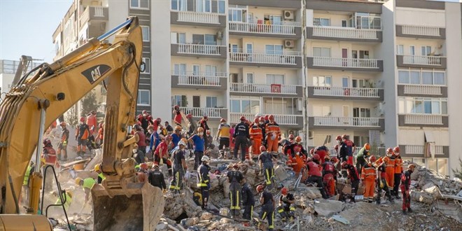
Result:
{"label": "lowest balcony in the column third from left, white railing and grey slab", "polygon": [[358,117],[332,117],[332,116],[310,116],[309,127],[351,130],[384,130],[384,118],[358,118]]}

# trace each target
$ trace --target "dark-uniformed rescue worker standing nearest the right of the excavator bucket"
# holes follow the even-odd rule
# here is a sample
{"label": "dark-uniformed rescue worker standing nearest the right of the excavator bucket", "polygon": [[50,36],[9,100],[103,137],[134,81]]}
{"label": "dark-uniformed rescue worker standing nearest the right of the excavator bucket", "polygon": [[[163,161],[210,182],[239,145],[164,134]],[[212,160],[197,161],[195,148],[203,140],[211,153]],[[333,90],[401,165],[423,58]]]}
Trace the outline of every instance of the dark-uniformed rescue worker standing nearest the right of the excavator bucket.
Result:
{"label": "dark-uniformed rescue worker standing nearest the right of the excavator bucket", "polygon": [[185,175],[188,165],[186,165],[185,152],[186,144],[184,141],[178,142],[179,149],[174,151],[172,155],[174,165],[174,176],[170,182],[170,190],[179,193],[183,188],[183,176]]}

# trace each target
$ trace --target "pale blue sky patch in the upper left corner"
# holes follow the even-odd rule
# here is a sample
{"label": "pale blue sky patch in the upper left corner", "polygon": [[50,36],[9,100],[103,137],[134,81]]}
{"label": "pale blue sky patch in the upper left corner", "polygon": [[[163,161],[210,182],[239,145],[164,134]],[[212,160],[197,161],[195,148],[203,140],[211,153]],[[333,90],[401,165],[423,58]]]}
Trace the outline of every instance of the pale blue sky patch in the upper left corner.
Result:
{"label": "pale blue sky patch in the upper left corner", "polygon": [[28,55],[52,62],[52,34],[71,5],[72,0],[0,0],[0,59]]}

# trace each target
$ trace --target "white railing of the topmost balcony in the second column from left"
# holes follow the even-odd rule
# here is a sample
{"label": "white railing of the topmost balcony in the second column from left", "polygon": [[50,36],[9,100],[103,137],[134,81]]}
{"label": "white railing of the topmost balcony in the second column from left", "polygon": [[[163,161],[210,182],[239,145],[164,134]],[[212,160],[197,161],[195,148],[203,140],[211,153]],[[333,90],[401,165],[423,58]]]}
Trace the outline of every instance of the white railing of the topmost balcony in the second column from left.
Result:
{"label": "white railing of the topmost balcony in the second column from left", "polygon": [[295,27],[300,27],[300,23],[266,25],[255,22],[230,22],[230,31],[258,34],[295,34]]}

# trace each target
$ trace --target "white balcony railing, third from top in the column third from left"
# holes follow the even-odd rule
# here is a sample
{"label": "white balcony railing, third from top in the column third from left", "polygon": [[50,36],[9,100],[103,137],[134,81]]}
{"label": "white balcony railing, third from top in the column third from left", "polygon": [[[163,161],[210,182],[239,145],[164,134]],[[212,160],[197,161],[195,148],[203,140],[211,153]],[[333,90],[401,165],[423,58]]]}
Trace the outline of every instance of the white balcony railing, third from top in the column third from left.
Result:
{"label": "white balcony railing, third from top in the column third from left", "polygon": [[313,94],[339,97],[380,97],[378,88],[366,87],[314,87]]}

